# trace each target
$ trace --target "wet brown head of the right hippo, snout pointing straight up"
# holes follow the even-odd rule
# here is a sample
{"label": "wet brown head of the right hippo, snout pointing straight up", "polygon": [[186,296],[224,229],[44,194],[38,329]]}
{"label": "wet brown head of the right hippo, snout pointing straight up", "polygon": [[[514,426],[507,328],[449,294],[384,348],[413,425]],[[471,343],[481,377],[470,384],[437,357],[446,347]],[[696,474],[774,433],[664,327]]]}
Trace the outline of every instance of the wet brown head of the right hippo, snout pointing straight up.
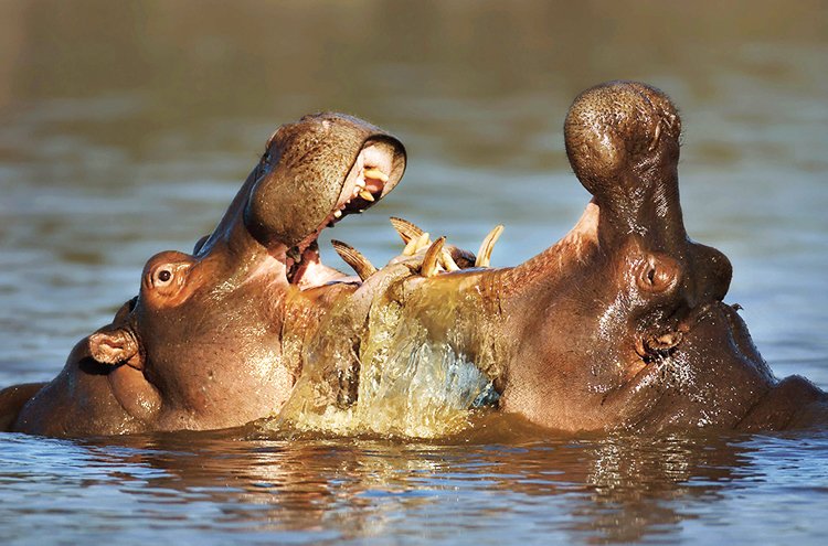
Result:
{"label": "wet brown head of the right hippo, snout pointing straight up", "polygon": [[751,416],[776,381],[723,302],[730,261],[684,231],[673,105],[643,84],[605,84],[577,97],[564,131],[593,200],[498,282],[516,344],[503,407],[564,430],[784,426],[790,415]]}

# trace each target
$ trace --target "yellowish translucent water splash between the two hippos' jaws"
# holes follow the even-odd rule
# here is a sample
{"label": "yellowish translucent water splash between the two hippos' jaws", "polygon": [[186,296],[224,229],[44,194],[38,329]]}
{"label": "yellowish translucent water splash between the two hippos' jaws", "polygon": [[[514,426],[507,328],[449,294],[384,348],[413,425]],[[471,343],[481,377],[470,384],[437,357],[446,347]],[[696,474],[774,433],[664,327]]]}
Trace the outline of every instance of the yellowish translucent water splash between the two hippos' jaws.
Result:
{"label": "yellowish translucent water splash between the two hippos' jaws", "polygon": [[330,314],[273,425],[434,438],[468,427],[471,408],[497,400],[481,371],[493,366],[480,365],[493,353],[469,339],[486,330],[470,328],[479,296],[428,291],[402,304],[392,295],[404,280],[392,280],[365,287],[370,303],[355,297]]}

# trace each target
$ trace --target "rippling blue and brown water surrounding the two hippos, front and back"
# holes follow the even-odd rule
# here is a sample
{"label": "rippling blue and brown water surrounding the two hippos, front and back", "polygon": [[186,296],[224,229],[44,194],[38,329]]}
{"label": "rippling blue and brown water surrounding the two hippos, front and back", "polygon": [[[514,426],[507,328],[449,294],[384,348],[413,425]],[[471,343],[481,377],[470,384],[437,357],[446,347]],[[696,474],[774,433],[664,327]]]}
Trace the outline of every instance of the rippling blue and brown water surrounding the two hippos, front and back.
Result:
{"label": "rippling blue and brown water surrounding the two hippos, front and back", "polygon": [[[818,1],[2,2],[0,386],[53,377],[309,111],[370,119],[411,160],[328,237],[382,264],[390,215],[471,249],[502,223],[493,265],[526,259],[586,202],[570,101],[618,77],[678,103],[688,231],[733,261],[729,301],[776,374],[828,388]],[[0,542],[821,544],[827,454],[822,433],[555,438],[498,419],[431,442],[0,435]]]}

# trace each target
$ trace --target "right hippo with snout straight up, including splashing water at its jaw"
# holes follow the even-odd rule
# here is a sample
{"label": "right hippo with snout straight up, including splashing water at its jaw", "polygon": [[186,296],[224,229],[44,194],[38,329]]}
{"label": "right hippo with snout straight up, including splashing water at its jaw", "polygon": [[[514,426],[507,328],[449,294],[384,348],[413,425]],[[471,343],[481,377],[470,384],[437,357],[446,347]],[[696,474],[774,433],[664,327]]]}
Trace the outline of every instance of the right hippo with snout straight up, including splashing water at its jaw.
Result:
{"label": "right hippo with snout straight up, including splashing water at its jaw", "polygon": [[[497,395],[503,411],[563,431],[828,421],[828,396],[798,376],[774,378],[737,306],[723,302],[728,258],[684,231],[681,121],[667,96],[599,85],[576,98],[564,131],[593,195],[575,227],[513,268],[440,272],[437,239],[421,259],[371,275],[310,345],[306,375],[318,379],[297,387],[283,418],[341,428],[325,400],[344,377],[359,385],[337,403],[381,432],[428,436],[435,416],[458,415],[446,406]],[[354,362],[331,370],[349,328]]]}

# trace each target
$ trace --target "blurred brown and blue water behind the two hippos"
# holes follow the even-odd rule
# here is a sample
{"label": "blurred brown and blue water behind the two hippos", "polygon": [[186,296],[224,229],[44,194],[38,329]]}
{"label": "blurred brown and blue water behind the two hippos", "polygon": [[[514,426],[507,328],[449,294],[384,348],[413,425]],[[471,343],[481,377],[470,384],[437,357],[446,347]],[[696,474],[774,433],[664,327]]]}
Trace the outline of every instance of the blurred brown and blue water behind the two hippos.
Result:
{"label": "blurred brown and blue water behind the two hippos", "polygon": [[473,250],[502,223],[493,264],[527,259],[588,200],[563,152],[570,103],[635,78],[681,108],[686,223],[733,261],[729,300],[777,374],[827,387],[827,6],[3,0],[0,386],[52,377],[311,111],[371,120],[410,157],[326,237],[384,264],[390,215]]}

